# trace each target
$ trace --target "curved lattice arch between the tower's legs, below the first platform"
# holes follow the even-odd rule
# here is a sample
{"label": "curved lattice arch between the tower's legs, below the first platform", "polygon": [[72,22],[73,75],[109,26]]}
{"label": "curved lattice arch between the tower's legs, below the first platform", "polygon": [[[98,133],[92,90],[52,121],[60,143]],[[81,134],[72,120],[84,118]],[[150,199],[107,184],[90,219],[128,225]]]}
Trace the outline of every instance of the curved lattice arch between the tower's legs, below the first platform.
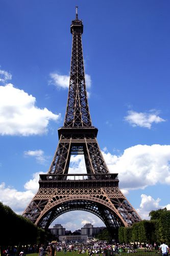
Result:
{"label": "curved lattice arch between the tower's legs, below the first platform", "polygon": [[106,197],[89,196],[70,196],[59,200],[55,200],[53,197],[35,224],[47,229],[57,217],[65,212],[84,210],[99,217],[109,230],[117,229],[119,226],[128,226],[114,206],[106,200]]}

